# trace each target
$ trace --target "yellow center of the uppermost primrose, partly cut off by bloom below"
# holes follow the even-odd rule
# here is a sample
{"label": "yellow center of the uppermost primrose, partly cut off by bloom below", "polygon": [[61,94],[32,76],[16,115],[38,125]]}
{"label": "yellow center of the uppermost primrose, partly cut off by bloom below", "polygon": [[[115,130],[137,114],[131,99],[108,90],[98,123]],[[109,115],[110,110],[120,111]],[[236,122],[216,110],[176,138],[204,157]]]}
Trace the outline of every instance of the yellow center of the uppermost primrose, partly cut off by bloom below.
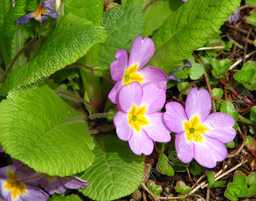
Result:
{"label": "yellow center of the uppermost primrose, partly cut off by bloom below", "polygon": [[129,85],[131,82],[143,82],[145,79],[137,73],[138,70],[138,64],[131,65],[129,66],[125,71],[124,71],[124,76],[123,76],[123,84],[124,85]]}

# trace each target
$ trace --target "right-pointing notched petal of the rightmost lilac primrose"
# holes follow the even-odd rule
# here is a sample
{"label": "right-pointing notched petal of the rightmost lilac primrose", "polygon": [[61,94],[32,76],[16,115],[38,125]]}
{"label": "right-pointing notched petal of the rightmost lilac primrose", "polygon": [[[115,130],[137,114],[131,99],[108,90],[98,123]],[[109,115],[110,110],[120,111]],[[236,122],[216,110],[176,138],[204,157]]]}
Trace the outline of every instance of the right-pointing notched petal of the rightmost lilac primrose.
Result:
{"label": "right-pointing notched petal of the rightmost lilac primrose", "polygon": [[224,113],[209,114],[203,121],[209,129],[207,136],[216,138],[220,142],[228,143],[236,136],[236,131],[232,128],[235,125],[235,120],[232,116]]}

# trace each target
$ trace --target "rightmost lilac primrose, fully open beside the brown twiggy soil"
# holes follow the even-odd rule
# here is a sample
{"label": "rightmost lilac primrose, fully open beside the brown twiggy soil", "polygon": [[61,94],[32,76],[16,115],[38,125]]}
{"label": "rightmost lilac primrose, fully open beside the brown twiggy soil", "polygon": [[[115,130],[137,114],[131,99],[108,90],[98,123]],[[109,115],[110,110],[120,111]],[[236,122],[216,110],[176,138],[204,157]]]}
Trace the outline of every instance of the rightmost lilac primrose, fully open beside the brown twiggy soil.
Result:
{"label": "rightmost lilac primrose, fully open beside the brown twiggy soil", "polygon": [[180,103],[169,102],[165,106],[164,121],[177,133],[175,148],[178,158],[188,163],[193,158],[202,166],[213,168],[227,154],[224,143],[236,136],[235,120],[228,114],[212,109],[210,94],[205,89],[192,88],[186,99],[185,110]]}

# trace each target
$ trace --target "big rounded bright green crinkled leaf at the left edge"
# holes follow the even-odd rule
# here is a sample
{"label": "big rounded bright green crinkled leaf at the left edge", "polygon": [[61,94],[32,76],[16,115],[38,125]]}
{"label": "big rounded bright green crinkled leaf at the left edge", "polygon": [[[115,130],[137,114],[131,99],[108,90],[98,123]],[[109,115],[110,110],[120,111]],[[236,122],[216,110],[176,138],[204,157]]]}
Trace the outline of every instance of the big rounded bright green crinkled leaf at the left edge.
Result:
{"label": "big rounded bright green crinkled leaf at the left edge", "polygon": [[61,177],[91,166],[94,143],[85,115],[47,85],[10,92],[0,111],[0,143],[14,159]]}

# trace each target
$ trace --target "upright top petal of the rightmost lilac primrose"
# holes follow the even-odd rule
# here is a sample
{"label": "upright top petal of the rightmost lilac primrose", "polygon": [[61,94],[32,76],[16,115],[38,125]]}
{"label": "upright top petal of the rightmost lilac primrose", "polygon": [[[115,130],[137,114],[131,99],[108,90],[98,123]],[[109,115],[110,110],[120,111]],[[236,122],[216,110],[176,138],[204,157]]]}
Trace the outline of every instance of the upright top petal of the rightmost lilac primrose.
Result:
{"label": "upright top petal of the rightmost lilac primrose", "polygon": [[196,87],[192,88],[188,93],[185,106],[185,112],[188,120],[197,114],[200,117],[200,122],[203,122],[209,115],[211,109],[212,100],[209,92],[203,88],[199,91]]}

